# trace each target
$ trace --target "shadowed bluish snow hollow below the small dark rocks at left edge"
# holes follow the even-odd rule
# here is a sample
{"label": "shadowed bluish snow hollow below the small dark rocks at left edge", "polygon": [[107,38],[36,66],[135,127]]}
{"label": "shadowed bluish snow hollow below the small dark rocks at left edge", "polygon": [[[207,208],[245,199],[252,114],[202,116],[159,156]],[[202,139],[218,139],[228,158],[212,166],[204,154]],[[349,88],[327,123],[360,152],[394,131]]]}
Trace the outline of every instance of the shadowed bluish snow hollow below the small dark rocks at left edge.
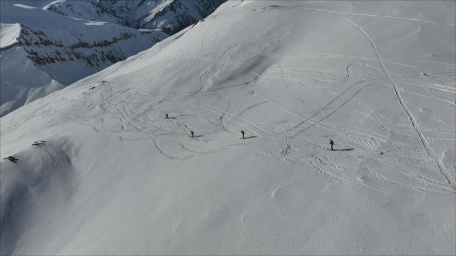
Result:
{"label": "shadowed bluish snow hollow below the small dark rocks at left edge", "polygon": [[[63,206],[76,189],[78,173],[72,159],[77,155],[78,145],[65,137],[49,141],[51,143],[29,146],[1,160],[1,255],[14,254],[19,242],[15,234],[29,228],[20,220],[40,222],[49,212],[58,214],[68,210]],[[39,209],[31,211],[37,202],[41,202]]]}

